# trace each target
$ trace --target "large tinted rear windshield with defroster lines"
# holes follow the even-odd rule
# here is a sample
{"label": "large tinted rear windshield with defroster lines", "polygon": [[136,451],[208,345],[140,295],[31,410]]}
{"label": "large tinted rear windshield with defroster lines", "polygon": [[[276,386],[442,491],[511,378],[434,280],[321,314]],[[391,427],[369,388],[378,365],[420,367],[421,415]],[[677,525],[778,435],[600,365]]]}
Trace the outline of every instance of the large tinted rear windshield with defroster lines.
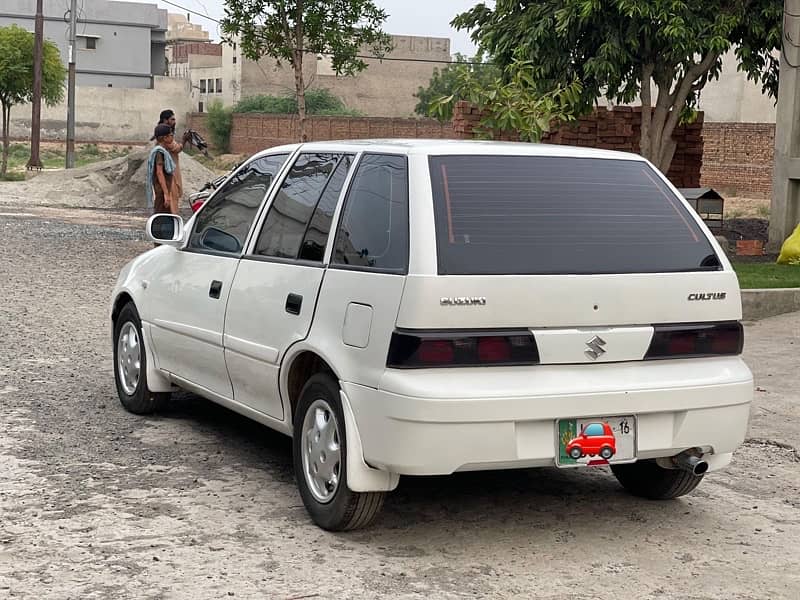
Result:
{"label": "large tinted rear windshield with defroster lines", "polygon": [[434,156],[442,275],[717,270],[681,201],[639,161]]}

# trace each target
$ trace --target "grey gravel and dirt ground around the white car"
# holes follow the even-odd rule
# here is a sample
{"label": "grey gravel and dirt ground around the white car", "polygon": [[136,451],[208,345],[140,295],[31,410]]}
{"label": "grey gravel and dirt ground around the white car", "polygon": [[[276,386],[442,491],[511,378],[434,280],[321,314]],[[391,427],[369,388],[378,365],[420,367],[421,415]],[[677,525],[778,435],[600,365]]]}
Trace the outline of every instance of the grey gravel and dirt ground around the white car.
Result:
{"label": "grey gravel and dirt ground around the white car", "polygon": [[800,313],[747,327],[751,439],[690,496],[604,469],[404,478],[331,534],[287,438],[190,394],[120,407],[107,303],[142,224],[0,207],[0,597],[798,597]]}

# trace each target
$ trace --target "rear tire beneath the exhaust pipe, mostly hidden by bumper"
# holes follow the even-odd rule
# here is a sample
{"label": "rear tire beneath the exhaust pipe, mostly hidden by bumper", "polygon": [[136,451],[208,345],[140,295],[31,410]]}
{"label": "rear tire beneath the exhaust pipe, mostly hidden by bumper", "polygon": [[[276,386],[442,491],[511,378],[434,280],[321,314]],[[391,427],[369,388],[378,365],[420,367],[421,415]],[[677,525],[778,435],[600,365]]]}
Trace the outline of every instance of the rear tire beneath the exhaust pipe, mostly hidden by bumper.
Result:
{"label": "rear tire beneath the exhaust pipe, mostly hidden by bumper", "polygon": [[681,469],[665,469],[655,460],[611,465],[611,472],[628,492],[650,500],[671,500],[688,494],[703,480]]}

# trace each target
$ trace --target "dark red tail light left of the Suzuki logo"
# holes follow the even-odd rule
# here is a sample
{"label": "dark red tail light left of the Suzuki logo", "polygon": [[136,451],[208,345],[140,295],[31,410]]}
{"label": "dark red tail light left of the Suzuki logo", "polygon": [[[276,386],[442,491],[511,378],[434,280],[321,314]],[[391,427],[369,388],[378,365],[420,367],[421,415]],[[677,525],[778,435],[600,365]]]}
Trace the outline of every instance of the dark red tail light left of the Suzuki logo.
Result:
{"label": "dark red tail light left of the Suzuki logo", "polygon": [[513,331],[395,331],[386,366],[395,369],[534,365],[533,334]]}

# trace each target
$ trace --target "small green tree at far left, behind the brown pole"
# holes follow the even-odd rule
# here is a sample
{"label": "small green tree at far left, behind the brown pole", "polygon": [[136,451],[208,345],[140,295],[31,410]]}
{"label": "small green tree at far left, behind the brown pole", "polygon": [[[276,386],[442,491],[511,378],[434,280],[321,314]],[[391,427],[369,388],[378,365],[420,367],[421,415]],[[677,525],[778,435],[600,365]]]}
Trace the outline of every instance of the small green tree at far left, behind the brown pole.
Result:
{"label": "small green tree at far left, behind the brown pole", "polygon": [[[0,177],[8,169],[11,107],[33,100],[34,35],[16,25],[0,27],[0,107],[3,118],[3,157]],[[42,52],[42,98],[48,106],[64,98],[66,71],[58,47],[45,40]]]}

